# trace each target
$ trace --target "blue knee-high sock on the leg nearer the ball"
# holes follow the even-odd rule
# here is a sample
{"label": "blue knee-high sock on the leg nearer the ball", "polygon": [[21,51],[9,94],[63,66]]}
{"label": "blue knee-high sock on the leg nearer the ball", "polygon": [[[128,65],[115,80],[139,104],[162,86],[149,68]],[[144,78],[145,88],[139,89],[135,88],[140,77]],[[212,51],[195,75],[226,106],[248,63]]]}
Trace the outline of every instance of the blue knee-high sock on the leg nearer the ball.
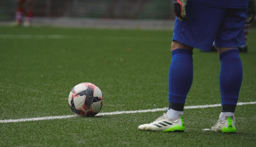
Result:
{"label": "blue knee-high sock on the leg nearer the ball", "polygon": [[[172,62],[169,68],[170,103],[183,104],[184,107],[187,93],[193,81],[192,55],[192,50],[176,49],[172,51]],[[180,110],[183,110],[183,108]]]}

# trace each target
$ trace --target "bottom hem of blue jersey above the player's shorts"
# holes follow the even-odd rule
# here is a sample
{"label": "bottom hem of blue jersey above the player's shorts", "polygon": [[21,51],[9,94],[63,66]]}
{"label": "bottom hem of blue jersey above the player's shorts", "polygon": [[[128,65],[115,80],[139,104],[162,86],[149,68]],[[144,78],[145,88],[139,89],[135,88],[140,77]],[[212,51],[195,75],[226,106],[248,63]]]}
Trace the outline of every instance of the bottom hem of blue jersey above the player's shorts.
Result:
{"label": "bottom hem of blue jersey above the player's shorts", "polygon": [[248,0],[188,0],[218,8],[248,8]]}

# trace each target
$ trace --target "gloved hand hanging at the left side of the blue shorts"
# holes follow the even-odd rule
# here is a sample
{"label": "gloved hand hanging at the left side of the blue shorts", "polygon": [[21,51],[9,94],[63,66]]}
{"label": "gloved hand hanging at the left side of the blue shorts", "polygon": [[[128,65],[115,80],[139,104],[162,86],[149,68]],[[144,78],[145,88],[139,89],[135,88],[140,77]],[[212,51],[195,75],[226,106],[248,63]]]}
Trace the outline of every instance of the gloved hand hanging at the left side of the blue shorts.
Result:
{"label": "gloved hand hanging at the left side of the blue shorts", "polygon": [[179,20],[185,20],[187,0],[173,0],[174,12]]}

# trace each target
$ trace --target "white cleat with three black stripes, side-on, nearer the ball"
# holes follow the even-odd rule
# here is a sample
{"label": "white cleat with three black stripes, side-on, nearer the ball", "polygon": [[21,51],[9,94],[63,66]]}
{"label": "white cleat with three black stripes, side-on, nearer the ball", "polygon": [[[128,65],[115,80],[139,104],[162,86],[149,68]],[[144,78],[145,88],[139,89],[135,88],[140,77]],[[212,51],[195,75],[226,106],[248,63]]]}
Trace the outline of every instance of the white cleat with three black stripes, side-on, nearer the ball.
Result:
{"label": "white cleat with three black stripes, side-on, nearer the ball", "polygon": [[138,129],[146,131],[184,132],[183,115],[179,115],[177,120],[172,120],[164,113],[156,121],[140,125]]}

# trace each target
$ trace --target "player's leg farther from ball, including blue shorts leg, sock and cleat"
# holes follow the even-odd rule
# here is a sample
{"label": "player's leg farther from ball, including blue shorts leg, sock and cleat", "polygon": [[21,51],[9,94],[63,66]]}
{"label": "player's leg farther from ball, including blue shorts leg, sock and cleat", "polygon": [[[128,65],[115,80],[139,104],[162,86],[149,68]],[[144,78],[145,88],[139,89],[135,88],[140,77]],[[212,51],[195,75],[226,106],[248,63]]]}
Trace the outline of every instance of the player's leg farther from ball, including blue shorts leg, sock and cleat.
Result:
{"label": "player's leg farther from ball, including blue shorts leg, sock and cleat", "polygon": [[243,79],[242,61],[237,47],[245,45],[245,18],[246,9],[228,9],[215,40],[221,62],[219,85],[222,111],[212,131],[236,132],[235,108]]}

